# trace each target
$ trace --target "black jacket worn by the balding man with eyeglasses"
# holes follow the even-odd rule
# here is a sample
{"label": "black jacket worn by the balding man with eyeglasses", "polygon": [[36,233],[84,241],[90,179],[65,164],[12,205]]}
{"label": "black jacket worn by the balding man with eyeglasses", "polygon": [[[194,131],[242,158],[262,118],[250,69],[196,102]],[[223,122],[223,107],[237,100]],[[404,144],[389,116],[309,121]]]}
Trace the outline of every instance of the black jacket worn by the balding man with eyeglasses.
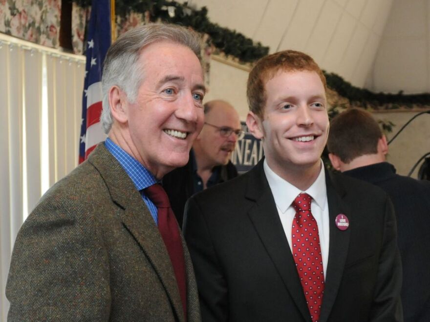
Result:
{"label": "black jacket worn by the balding man with eyeglasses", "polygon": [[[169,196],[173,213],[178,221],[179,227],[182,227],[184,217],[185,202],[194,195],[194,174],[193,174],[194,154],[190,151],[188,163],[180,168],[176,168],[163,177],[163,188]],[[237,177],[235,165],[229,161],[226,165],[220,165],[219,182]]]}

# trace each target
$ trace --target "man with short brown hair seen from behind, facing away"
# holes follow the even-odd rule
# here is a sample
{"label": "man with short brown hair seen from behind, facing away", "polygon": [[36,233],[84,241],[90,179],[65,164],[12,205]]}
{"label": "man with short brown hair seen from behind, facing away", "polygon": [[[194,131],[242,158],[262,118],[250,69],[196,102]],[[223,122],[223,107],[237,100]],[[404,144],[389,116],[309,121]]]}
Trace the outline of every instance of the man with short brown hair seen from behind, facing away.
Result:
{"label": "man with short brown hair seen from behind, facing away", "polygon": [[330,122],[330,161],[345,175],[377,185],[396,213],[402,257],[403,313],[407,322],[430,321],[430,182],[396,174],[386,161],[388,144],[377,121],[362,109],[348,109]]}

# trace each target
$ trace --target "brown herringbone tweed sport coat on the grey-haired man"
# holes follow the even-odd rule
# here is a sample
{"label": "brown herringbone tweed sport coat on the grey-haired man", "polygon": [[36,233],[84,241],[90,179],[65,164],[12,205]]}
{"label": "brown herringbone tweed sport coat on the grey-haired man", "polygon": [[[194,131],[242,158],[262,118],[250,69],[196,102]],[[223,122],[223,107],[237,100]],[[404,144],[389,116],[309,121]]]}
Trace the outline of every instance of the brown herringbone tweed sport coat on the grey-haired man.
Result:
{"label": "brown herringbone tweed sport coat on the grey-haired man", "polygon": [[[187,320],[197,322],[194,272],[182,243]],[[158,228],[103,143],[22,225],[6,296],[8,321],[185,321]]]}

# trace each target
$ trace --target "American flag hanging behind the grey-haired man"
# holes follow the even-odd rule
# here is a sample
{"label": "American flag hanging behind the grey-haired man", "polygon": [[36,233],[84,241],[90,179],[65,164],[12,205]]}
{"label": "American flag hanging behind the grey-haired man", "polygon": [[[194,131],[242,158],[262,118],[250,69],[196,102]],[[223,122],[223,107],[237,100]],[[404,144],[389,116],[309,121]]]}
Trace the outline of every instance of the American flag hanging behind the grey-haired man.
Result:
{"label": "American flag hanging behind the grey-haired man", "polygon": [[110,46],[110,0],[92,0],[87,30],[79,163],[86,160],[97,143],[106,139],[100,114],[103,61]]}

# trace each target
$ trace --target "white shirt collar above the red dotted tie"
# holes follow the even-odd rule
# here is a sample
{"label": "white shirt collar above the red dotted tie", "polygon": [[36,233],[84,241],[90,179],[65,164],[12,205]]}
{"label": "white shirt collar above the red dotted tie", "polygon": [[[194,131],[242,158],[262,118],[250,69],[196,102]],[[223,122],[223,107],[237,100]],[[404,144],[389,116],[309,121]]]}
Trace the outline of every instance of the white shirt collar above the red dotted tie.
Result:
{"label": "white shirt collar above the red dotted tie", "polygon": [[312,183],[312,185],[306,189],[306,191],[301,191],[299,188],[292,185],[290,182],[282,179],[267,164],[264,160],[263,163],[264,173],[266,175],[269,187],[272,190],[273,198],[275,199],[276,205],[279,207],[282,213],[284,213],[288,207],[291,206],[294,199],[301,193],[305,192],[315,201],[318,207],[324,209],[327,195],[327,188],[325,185],[325,170],[323,166],[323,161],[321,161],[321,171],[317,179]]}

